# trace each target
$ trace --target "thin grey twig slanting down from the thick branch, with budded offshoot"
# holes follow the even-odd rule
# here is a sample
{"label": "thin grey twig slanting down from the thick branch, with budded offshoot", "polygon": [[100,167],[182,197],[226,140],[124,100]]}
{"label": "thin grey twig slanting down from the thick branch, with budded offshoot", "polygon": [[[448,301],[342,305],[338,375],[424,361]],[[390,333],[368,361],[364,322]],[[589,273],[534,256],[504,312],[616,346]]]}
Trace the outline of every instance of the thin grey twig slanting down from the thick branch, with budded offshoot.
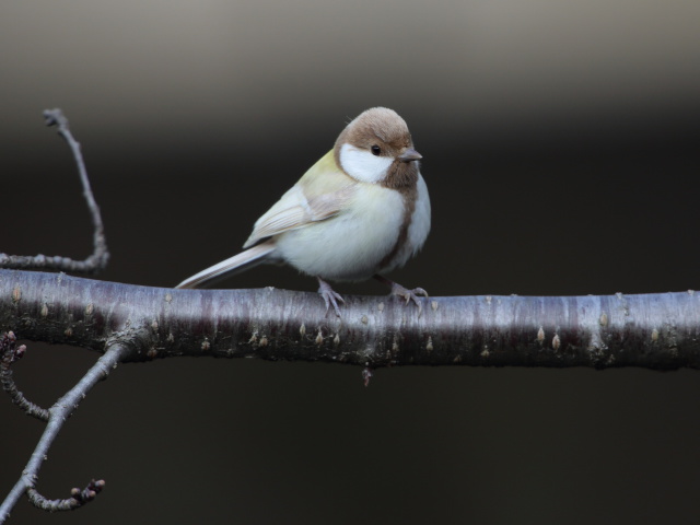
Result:
{"label": "thin grey twig slanting down from the thick branch, with budded offshoot", "polygon": [[[80,380],[73,388],[56,401],[56,404],[49,409],[49,420],[42,439],[36,445],[30,462],[22,471],[22,476],[0,505],[0,524],[4,523],[10,516],[10,511],[14,508],[20,497],[35,488],[39,468],[48,454],[49,447],[54,443],[58,432],[63,427],[63,423],[66,423],[68,417],[78,408],[78,404],[83,399],[83,397],[85,397],[92,387],[95,386],[98,381],[104,380],[109,375],[109,372],[116,368],[117,363],[122,359],[127,351],[128,348],[120,343],[115,343],[108,347],[105,353],[88,371],[82,380]],[[79,493],[77,493],[75,489],[73,489],[71,498],[55,501],[47,500],[35,490],[32,490],[31,500],[35,505],[48,511],[73,510],[94,498],[102,487],[104,487],[104,481],[94,481],[88,486],[84,493],[83,491],[79,491]],[[91,492],[94,492],[94,494],[91,495]],[[70,500],[74,500],[75,502],[70,502]],[[67,501],[69,503],[66,503]]]}

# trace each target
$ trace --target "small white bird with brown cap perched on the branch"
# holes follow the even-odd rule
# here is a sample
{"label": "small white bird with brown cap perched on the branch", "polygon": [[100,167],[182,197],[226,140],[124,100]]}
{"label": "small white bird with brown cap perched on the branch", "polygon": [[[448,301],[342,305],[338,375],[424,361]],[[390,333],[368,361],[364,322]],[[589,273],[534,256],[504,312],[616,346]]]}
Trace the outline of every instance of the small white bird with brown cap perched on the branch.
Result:
{"label": "small white bird with brown cap perched on the branch", "polygon": [[207,281],[260,262],[287,262],[316,277],[318,293],[340,316],[343,302],[326,279],[361,281],[374,277],[392,294],[421,311],[417,288],[407,290],[381,273],[402,267],[422,247],[430,231],[430,198],[418,168],[408,126],[385,107],[362,113],[324,155],[255,223],[234,255],[176,288]]}

